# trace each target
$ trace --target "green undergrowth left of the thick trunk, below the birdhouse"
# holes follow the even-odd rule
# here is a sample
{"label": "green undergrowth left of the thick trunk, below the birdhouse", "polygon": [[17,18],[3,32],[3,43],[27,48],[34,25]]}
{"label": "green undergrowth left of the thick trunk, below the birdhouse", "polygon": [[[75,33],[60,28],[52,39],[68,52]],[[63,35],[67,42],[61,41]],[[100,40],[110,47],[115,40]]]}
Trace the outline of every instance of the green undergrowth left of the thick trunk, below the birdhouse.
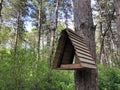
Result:
{"label": "green undergrowth left of the thick trunk, below the birdhouse", "polygon": [[[21,67],[20,71],[15,73],[20,75],[21,90],[31,90],[35,88],[35,62],[34,56],[30,49],[27,53],[24,49],[19,49],[20,62],[17,67]],[[11,88],[18,88],[14,85],[12,53],[9,49],[0,51],[0,89],[10,90]],[[57,71],[51,70],[46,60],[40,60],[38,63],[38,88],[37,90],[73,90],[73,72],[72,71]],[[16,69],[17,69],[16,67]]]}

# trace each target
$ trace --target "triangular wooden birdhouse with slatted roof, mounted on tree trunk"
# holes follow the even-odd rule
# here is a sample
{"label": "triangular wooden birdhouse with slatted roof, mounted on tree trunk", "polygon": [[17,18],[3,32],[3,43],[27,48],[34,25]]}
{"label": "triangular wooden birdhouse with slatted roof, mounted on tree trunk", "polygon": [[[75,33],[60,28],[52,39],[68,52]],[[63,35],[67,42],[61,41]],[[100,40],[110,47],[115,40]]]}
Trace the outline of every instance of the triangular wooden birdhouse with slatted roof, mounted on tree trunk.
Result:
{"label": "triangular wooden birdhouse with slatted roof, mounted on tree trunk", "polygon": [[62,70],[95,69],[96,65],[85,40],[72,30],[65,29],[61,32],[52,68]]}

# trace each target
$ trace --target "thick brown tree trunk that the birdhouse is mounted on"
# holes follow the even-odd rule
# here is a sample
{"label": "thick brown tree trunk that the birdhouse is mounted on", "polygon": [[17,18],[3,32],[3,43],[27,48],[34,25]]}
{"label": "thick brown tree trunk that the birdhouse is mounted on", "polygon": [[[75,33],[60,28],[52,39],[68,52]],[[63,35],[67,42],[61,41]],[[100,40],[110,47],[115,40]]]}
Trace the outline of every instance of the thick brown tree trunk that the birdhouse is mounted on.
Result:
{"label": "thick brown tree trunk that the birdhouse is mounted on", "polygon": [[[76,33],[83,36],[96,60],[95,26],[93,25],[91,1],[73,0]],[[75,70],[75,90],[98,90],[97,70]]]}

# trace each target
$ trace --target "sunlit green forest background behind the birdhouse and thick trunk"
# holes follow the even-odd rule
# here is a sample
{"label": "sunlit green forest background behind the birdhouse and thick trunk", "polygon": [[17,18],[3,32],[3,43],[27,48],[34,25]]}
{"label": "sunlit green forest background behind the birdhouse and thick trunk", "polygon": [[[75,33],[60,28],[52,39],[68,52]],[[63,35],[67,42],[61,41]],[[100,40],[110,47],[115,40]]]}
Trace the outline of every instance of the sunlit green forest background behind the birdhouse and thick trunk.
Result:
{"label": "sunlit green forest background behind the birdhouse and thick trunk", "polygon": [[[70,0],[1,0],[0,90],[74,90],[74,71],[51,69]],[[99,90],[120,90],[120,52],[111,0],[92,2]],[[119,37],[120,38],[120,37]]]}

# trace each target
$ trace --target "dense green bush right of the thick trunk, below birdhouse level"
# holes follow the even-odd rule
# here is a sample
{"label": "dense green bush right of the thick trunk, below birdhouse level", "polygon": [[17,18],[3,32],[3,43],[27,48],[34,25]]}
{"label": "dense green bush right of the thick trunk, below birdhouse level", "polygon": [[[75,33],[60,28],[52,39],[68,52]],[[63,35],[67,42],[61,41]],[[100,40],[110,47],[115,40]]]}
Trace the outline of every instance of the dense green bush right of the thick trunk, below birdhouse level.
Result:
{"label": "dense green bush right of the thick trunk, below birdhouse level", "polygon": [[99,90],[120,90],[120,69],[98,65]]}

